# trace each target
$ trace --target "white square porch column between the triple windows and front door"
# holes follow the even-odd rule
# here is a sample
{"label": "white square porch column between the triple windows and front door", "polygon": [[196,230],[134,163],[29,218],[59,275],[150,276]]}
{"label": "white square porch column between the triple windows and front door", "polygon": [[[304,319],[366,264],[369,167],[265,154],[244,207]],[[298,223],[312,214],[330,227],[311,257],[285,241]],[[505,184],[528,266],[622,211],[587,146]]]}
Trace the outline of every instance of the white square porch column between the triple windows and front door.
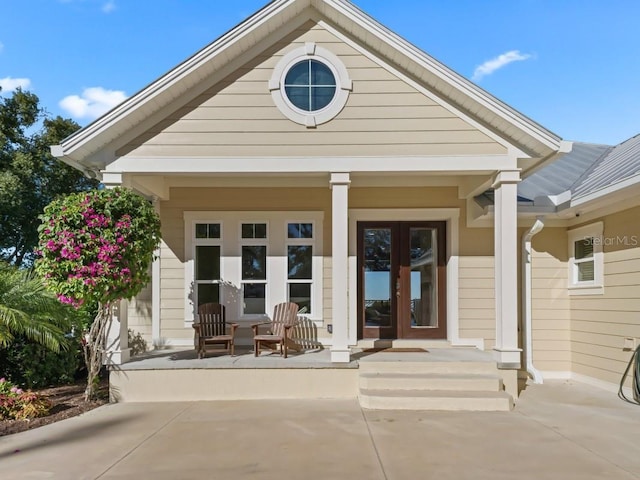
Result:
{"label": "white square porch column between the triple windows and front door", "polygon": [[351,360],[349,349],[349,184],[348,173],[331,173],[331,361]]}

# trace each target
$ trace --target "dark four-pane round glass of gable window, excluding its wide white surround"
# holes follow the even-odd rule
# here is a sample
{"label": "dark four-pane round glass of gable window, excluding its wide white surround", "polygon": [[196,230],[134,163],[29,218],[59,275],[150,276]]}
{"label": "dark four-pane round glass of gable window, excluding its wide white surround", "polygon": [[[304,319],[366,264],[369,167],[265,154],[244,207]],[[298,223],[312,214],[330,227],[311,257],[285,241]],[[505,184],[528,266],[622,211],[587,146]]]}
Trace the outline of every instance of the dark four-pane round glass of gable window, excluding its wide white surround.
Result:
{"label": "dark four-pane round glass of gable window, excluding its wide white surround", "polygon": [[317,112],[329,105],[336,95],[336,88],[331,69],[313,59],[293,65],[284,79],[287,99],[305,112]]}

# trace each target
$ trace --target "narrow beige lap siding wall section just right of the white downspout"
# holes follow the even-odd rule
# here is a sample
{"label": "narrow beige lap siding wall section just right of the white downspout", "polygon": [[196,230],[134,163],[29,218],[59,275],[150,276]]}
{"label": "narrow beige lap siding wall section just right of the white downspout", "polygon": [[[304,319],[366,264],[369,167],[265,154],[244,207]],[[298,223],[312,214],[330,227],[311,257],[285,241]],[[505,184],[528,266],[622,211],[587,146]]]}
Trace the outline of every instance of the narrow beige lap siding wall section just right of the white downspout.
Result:
{"label": "narrow beige lap siding wall section just right of the white downspout", "polygon": [[568,372],[571,314],[566,229],[545,228],[533,238],[531,277],[534,365],[542,371]]}

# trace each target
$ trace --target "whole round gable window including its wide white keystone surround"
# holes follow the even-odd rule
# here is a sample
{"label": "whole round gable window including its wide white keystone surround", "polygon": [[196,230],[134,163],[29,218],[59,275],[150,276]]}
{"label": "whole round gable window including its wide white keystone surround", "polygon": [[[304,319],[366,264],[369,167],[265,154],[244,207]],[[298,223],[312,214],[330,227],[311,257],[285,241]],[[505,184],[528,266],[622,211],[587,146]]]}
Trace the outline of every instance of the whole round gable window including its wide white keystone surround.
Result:
{"label": "whole round gable window including its wide white keystone surround", "polygon": [[269,80],[278,109],[289,120],[309,128],[335,118],[352,88],[342,61],[314,42],[283,56]]}

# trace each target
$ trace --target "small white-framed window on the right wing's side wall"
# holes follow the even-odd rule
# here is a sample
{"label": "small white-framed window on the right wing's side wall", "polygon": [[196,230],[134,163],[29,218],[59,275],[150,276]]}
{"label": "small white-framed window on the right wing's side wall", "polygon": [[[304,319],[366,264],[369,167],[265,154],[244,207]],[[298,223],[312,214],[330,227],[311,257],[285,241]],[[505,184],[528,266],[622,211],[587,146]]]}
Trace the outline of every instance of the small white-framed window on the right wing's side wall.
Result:
{"label": "small white-framed window on the right wing's side wall", "polygon": [[569,295],[604,292],[604,224],[592,223],[568,231]]}

